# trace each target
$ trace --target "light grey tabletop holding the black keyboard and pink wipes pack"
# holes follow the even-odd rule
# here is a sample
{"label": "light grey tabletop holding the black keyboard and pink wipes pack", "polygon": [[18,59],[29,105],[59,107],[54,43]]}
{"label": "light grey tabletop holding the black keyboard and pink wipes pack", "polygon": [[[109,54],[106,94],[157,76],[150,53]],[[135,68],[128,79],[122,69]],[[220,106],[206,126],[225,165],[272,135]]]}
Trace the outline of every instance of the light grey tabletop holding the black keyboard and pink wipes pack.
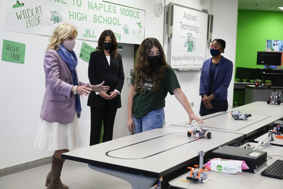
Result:
{"label": "light grey tabletop holding the black keyboard and pink wipes pack", "polygon": [[[256,143],[250,143],[254,146]],[[271,148],[259,146],[260,151],[267,151],[268,156],[280,155],[283,156],[283,150],[279,146],[272,146]],[[270,165],[277,159],[282,159],[283,157],[273,156],[272,159],[267,160],[267,164]],[[269,157],[267,157],[269,159]],[[266,169],[265,165],[256,174],[249,172],[238,172],[237,174],[226,174],[214,171],[208,171],[208,176],[212,177],[207,183],[193,183],[185,182],[180,180],[187,180],[187,176],[190,172],[169,181],[170,189],[182,188],[182,189],[239,189],[239,188],[281,188],[282,180],[270,177],[265,177],[261,175],[261,172]]]}

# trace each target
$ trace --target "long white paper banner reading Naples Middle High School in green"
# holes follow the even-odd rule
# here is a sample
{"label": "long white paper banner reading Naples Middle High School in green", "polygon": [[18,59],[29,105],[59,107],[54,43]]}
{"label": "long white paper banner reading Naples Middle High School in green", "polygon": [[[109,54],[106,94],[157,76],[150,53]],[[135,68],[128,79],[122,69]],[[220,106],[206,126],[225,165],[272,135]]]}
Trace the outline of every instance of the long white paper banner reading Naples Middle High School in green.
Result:
{"label": "long white paper banner reading Naples Middle High School in green", "polygon": [[5,31],[49,36],[66,22],[77,27],[78,39],[97,41],[110,29],[119,43],[144,40],[142,9],[97,0],[6,0],[5,5]]}

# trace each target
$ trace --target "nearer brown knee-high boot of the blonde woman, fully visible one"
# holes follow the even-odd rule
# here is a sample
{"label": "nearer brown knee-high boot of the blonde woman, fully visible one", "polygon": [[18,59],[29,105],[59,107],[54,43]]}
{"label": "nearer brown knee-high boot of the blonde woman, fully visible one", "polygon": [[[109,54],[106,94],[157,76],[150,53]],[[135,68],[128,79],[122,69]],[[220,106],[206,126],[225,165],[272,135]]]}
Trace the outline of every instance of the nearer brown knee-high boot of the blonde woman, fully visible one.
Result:
{"label": "nearer brown knee-high boot of the blonde woman, fully visible one", "polygon": [[[62,171],[64,161],[65,159],[56,158],[54,156],[52,157],[50,182],[47,185],[47,189],[61,189],[62,188],[61,184],[63,185],[63,183],[60,180],[60,176],[61,176],[61,171]],[[48,175],[47,175],[47,178],[48,178]],[[48,182],[47,178],[46,178],[46,183]],[[66,185],[63,185],[63,187],[65,187],[66,189],[69,188]]]}

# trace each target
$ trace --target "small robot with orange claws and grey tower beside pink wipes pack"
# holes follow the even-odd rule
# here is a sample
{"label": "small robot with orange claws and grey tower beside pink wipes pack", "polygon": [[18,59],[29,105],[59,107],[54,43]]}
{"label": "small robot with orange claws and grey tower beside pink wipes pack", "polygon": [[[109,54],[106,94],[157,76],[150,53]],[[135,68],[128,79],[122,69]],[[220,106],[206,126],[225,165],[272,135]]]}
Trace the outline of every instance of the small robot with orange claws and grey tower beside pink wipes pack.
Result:
{"label": "small robot with orange claws and grey tower beside pink wipes pack", "polygon": [[211,177],[208,177],[207,170],[210,169],[209,167],[203,166],[203,156],[205,152],[199,151],[198,155],[200,155],[200,165],[195,165],[196,168],[188,167],[191,169],[190,176],[187,177],[187,180],[191,180],[198,183],[206,183]]}

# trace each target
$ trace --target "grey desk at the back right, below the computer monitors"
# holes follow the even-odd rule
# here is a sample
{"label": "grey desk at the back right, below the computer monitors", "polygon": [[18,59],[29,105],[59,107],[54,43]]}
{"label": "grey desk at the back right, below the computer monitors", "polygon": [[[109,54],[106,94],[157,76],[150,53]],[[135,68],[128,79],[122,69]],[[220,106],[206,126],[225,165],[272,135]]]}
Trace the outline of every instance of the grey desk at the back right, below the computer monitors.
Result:
{"label": "grey desk at the back right, below the computer monitors", "polygon": [[[256,101],[264,101],[270,97],[273,90],[282,93],[283,87],[255,87],[254,85],[245,86],[245,104],[249,104]],[[282,99],[282,94],[280,96]]]}

